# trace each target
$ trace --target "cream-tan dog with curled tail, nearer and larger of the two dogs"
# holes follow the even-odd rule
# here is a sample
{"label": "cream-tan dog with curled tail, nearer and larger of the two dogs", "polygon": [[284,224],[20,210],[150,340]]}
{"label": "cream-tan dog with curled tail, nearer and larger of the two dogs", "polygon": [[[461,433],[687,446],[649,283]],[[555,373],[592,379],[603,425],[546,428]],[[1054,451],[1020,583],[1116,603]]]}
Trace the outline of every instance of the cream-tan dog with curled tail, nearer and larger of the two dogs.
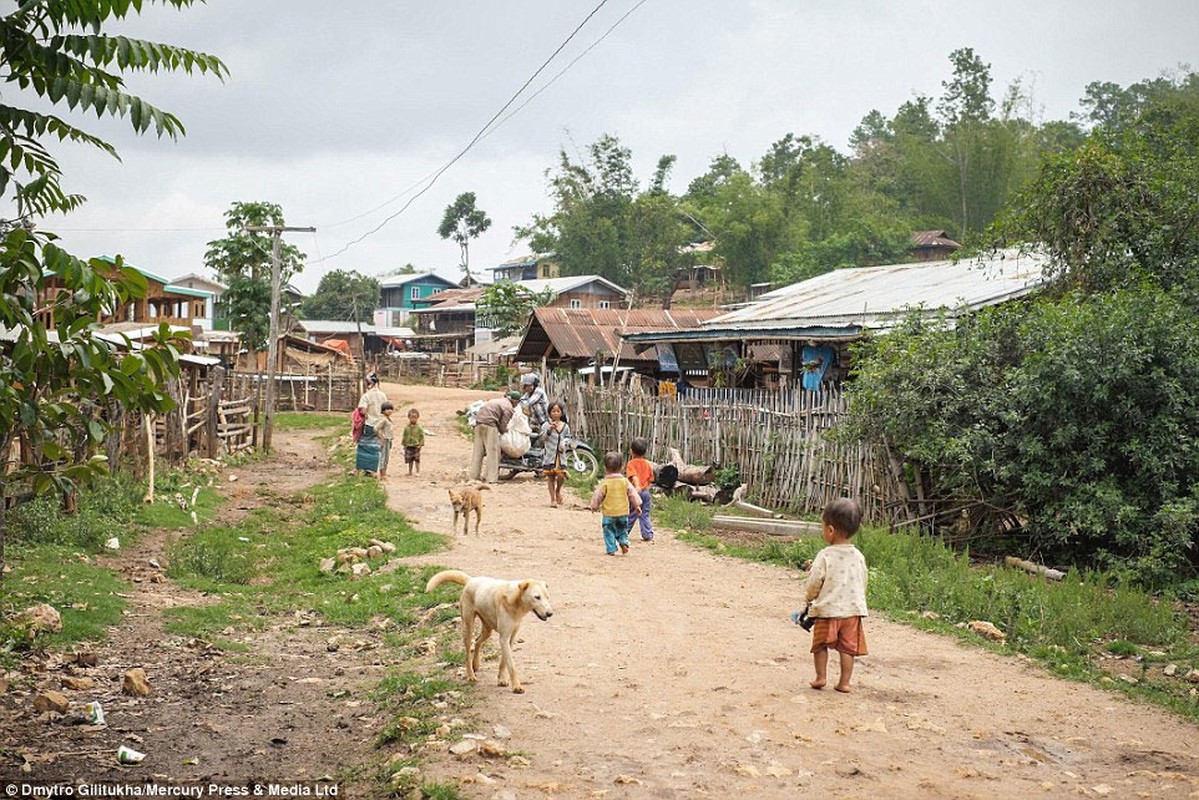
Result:
{"label": "cream-tan dog with curled tail, nearer and larger of the two dogs", "polygon": [[[500,633],[500,672],[498,685],[512,682],[512,691],[524,692],[520,679],[517,678],[517,666],[512,660],[512,644],[517,639],[520,620],[532,612],[544,621],[554,615],[549,604],[549,587],[544,581],[500,581],[482,576],[470,577],[459,570],[446,570],[429,578],[424,591],[433,591],[442,583],[460,583],[462,590],[462,644],[466,651],[466,680],[478,680],[478,660],[483,643],[492,637],[492,631]],[[475,618],[478,618],[481,630],[478,638],[471,642],[475,631]],[[504,676],[507,670],[507,679]]]}

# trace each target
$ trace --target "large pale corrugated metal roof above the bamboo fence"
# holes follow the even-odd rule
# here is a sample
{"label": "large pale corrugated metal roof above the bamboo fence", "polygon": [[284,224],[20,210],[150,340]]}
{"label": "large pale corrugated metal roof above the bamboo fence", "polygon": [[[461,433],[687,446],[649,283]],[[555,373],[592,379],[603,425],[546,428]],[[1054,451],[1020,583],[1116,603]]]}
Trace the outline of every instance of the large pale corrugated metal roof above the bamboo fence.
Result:
{"label": "large pale corrugated metal roof above the bamboo fence", "polygon": [[1008,251],[989,259],[833,270],[767,293],[706,326],[886,329],[912,308],[972,311],[1025,295],[1044,282],[1046,261]]}

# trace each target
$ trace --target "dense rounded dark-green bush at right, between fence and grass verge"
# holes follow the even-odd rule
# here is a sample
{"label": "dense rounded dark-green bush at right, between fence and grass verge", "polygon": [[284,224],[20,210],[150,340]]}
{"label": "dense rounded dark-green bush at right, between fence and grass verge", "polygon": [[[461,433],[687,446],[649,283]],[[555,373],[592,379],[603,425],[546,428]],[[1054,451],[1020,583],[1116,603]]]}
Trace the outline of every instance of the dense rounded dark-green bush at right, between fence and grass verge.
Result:
{"label": "dense rounded dark-green bush at right, between fence and grass verge", "polygon": [[1199,561],[1197,336],[1179,293],[1151,288],[956,330],[914,315],[857,349],[839,435],[880,443],[983,530],[1161,588]]}

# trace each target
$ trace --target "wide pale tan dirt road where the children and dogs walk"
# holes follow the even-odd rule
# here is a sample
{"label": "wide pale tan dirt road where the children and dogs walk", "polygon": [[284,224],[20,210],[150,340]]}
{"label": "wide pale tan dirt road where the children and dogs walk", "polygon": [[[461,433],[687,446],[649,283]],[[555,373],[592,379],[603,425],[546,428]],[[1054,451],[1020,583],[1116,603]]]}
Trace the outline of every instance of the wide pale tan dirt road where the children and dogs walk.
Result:
{"label": "wide pale tan dirt road where the children and dogs walk", "polygon": [[[418,479],[396,464],[390,504],[450,534],[446,488],[470,455],[454,410],[487,395],[385,389],[436,434]],[[550,509],[529,476],[486,500],[481,536],[418,563],[543,578],[555,614],[522,630],[524,694],[493,685],[494,662],[480,684],[477,711],[523,758],[429,768],[466,780],[468,796],[1199,796],[1199,728],[1165,711],[880,616],[855,692],[812,691],[808,637],[788,620],[795,572],[667,530],[607,558],[585,503]]]}

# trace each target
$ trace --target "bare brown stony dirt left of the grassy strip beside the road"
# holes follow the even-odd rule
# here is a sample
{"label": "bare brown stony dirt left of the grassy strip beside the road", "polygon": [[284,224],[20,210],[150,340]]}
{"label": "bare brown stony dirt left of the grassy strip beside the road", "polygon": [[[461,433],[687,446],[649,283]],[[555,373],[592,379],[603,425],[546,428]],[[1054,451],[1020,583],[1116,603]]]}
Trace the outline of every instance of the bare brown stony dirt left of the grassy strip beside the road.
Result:
{"label": "bare brown stony dirt left of the grassy strip beside the road", "polygon": [[[311,434],[279,432],[275,445],[271,461],[221,471],[229,498],[223,522],[245,516],[265,498],[287,498],[332,474]],[[265,630],[222,636],[246,645],[245,654],[173,636],[164,628],[164,609],[203,606],[210,599],[179,588],[150,564],[167,563],[167,540],[155,534],[104,559],[131,583],[129,608],[106,642],[80,646],[95,656],[95,666],[50,656],[29,664],[37,670],[35,686],[23,684],[0,694],[0,753],[10,756],[0,758],[0,786],[7,788],[5,778],[312,786],[324,776],[345,778],[338,770],[370,762],[380,720],[364,694],[385,669],[380,631],[342,631],[303,615],[275,619]],[[331,652],[326,640],[338,634],[348,646]],[[133,667],[145,670],[150,697],[121,693],[125,670]],[[64,678],[86,679],[92,686],[72,691],[64,687]],[[64,691],[71,711],[65,717],[32,714],[34,688]],[[72,723],[91,700],[104,709],[107,727]],[[118,765],[120,745],[145,752],[145,762]],[[349,782],[345,788],[349,796],[366,793]]]}

